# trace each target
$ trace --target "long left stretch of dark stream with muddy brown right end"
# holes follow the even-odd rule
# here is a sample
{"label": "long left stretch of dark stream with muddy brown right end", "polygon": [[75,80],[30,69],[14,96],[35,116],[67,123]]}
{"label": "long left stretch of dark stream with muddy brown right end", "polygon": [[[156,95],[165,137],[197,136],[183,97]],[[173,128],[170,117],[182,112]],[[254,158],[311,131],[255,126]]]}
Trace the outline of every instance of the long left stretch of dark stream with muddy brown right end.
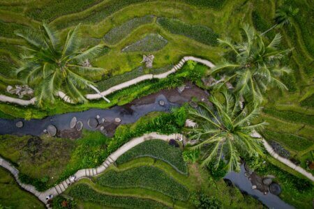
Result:
{"label": "long left stretch of dark stream with muddy brown right end", "polygon": [[[103,127],[105,130],[104,133],[106,132],[108,136],[112,136],[114,130],[116,130],[117,126],[120,124],[134,123],[140,117],[152,111],[170,111],[172,107],[188,102],[193,97],[199,100],[204,100],[208,97],[208,93],[197,88],[197,86],[186,84],[184,91],[182,92],[179,92],[177,88],[162,90],[158,93],[134,100],[133,102],[130,102],[130,104],[115,106],[110,109],[89,109],[87,111],[59,114],[40,120],[33,119],[30,121],[0,118],[0,134],[30,134],[33,136],[40,136],[41,134],[45,134],[44,130],[47,130],[48,125],[54,125],[58,130],[57,136],[67,137],[68,134],[69,138],[77,138],[80,137],[80,134],[77,134],[76,129],[70,129],[70,121],[73,117],[76,117],[77,121],[82,121],[84,129],[100,130],[100,127]],[[163,105],[160,105],[160,100],[163,100]],[[97,117],[99,117],[98,127],[89,127],[89,119]],[[103,118],[105,119],[105,122],[103,122]],[[121,122],[116,123],[114,121],[115,118],[120,118]],[[24,123],[23,127],[16,127],[15,124],[17,121],[22,121]]]}

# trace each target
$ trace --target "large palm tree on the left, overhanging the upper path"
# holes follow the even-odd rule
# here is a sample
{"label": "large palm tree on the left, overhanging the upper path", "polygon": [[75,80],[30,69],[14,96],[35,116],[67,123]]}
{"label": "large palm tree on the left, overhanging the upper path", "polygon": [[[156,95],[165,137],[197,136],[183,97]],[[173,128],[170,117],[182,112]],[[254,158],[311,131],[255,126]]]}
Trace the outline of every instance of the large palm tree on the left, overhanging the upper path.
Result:
{"label": "large palm tree on the left, overhanging the upper path", "polygon": [[68,32],[63,45],[57,31],[45,23],[39,31],[15,31],[15,34],[28,43],[23,47],[24,63],[17,69],[17,77],[27,84],[38,85],[35,92],[39,106],[44,101],[53,103],[55,95],[61,90],[66,91],[73,102],[87,102],[80,90],[87,86],[93,88],[94,83],[85,76],[101,75],[104,70],[83,66],[81,63],[98,56],[103,45],[82,52],[79,26]]}

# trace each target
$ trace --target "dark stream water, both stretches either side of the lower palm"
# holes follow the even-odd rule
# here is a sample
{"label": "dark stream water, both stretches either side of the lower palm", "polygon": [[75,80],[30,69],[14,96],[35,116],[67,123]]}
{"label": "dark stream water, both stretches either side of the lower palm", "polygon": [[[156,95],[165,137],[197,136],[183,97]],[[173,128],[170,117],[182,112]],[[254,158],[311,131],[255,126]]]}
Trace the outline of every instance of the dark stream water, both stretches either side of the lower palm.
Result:
{"label": "dark stream water, both stretches either side of the lower palm", "polygon": [[[59,114],[43,119],[33,119],[30,121],[24,121],[21,119],[7,120],[0,118],[0,134],[31,134],[33,136],[40,136],[45,133],[44,130],[47,129],[48,125],[54,125],[57,127],[59,132],[62,132],[63,130],[71,130],[70,121],[73,117],[76,117],[77,121],[82,121],[84,129],[100,130],[100,127],[103,127],[108,135],[112,135],[119,124],[134,123],[140,117],[148,114],[149,112],[170,111],[172,107],[180,106],[184,102],[190,101],[193,97],[198,100],[204,100],[207,96],[208,93],[206,91],[202,91],[196,86],[186,84],[185,90],[181,93],[179,93],[177,89],[163,90],[159,93],[135,100],[130,104],[115,106],[110,109],[89,109],[87,111]],[[163,105],[160,105],[160,100],[164,102]],[[99,116],[98,127],[89,127],[89,118],[97,118],[97,116]],[[105,119],[105,122],[103,122],[103,118]],[[115,122],[115,118],[120,118],[121,122]],[[17,121],[22,121],[24,124],[23,127],[16,127],[15,124]],[[264,195],[257,189],[252,189],[251,181],[244,176],[244,172],[245,169],[244,166],[242,166],[240,173],[230,172],[227,173],[225,178],[231,180],[232,183],[239,187],[242,192],[246,192],[247,194],[255,197],[255,199],[260,200],[269,208],[293,208],[274,194],[268,193]]]}

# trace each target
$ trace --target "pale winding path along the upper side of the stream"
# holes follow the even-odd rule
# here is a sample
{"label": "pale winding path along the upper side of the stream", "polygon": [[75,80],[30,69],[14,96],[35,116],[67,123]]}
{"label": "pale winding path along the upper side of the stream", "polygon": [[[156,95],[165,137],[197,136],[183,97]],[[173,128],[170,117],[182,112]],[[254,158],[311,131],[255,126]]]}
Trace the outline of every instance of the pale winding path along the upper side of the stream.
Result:
{"label": "pale winding path along the upper side of the stream", "polygon": [[[95,93],[95,94],[87,94],[85,95],[85,97],[89,100],[97,100],[100,98],[103,98],[106,95],[110,95],[111,93],[114,93],[115,91],[119,91],[122,88],[127,88],[129,86],[132,86],[134,84],[138,84],[140,82],[143,82],[145,80],[149,80],[149,79],[163,79],[165,77],[167,77],[168,75],[177,72],[177,70],[181,69],[184,65],[184,63],[186,61],[196,61],[197,63],[201,63],[203,65],[207,65],[209,68],[214,68],[214,64],[211,63],[211,61],[205,60],[205,59],[200,59],[194,56],[184,56],[183,59],[181,59],[181,61],[179,61],[179,63],[177,65],[174,65],[173,68],[167,72],[158,74],[158,75],[154,75],[154,74],[147,74],[147,75],[142,75],[140,77],[137,77],[135,79],[131,79],[128,82],[124,82],[122,84],[118,84],[117,86],[112,86],[111,88],[107,89],[106,91],[103,91],[101,93]],[[57,95],[64,100],[65,102],[74,104],[74,102],[70,99],[70,97],[68,97],[68,95],[66,95],[65,93],[63,93],[62,91],[59,91],[57,93]],[[8,97],[6,95],[0,95],[0,102],[10,102],[10,103],[15,103],[15,104],[20,104],[23,106],[27,106],[30,104],[35,104],[36,102],[36,98],[32,98],[31,100],[21,100],[21,99],[17,99],[17,98],[11,98]]]}

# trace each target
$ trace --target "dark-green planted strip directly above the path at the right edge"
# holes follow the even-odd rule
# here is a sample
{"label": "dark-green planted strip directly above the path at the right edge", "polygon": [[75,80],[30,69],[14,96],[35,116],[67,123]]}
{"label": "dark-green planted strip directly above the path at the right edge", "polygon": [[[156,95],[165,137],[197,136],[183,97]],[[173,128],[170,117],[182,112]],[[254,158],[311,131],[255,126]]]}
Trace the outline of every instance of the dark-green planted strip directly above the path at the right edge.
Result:
{"label": "dark-green planted strip directly above the path at the right edge", "polygon": [[310,139],[299,137],[294,134],[288,134],[284,132],[273,132],[271,130],[262,130],[263,136],[267,140],[275,140],[283,145],[291,148],[292,150],[302,151],[313,145]]}

